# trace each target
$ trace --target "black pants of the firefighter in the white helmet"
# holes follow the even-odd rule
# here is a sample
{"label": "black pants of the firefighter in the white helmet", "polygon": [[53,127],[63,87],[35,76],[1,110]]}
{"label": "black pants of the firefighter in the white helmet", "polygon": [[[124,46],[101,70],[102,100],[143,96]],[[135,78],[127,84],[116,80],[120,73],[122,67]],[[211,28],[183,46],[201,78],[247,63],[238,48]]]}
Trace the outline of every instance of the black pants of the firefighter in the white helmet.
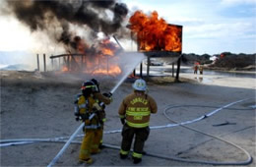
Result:
{"label": "black pants of the firefighter in the white helmet", "polygon": [[134,140],[134,147],[133,147],[133,157],[142,158],[143,147],[145,141],[148,139],[150,135],[150,128],[132,128],[128,125],[123,126],[122,130],[122,144],[120,153],[123,155],[127,155],[130,151],[132,141]]}

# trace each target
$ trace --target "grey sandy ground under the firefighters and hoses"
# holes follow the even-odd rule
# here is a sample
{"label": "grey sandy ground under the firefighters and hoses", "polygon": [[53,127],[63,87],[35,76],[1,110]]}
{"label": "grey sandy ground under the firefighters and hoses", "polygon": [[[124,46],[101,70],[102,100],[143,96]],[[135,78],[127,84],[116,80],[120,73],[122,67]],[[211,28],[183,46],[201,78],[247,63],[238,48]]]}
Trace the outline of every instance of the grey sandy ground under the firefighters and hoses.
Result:
{"label": "grey sandy ground under the firefighters and hoses", "polygon": [[[255,79],[193,74],[181,74],[180,77],[181,83],[173,83],[169,77],[151,78],[148,82],[149,93],[159,105],[158,114],[151,117],[151,127],[173,123],[164,116],[163,111],[167,106],[176,106],[166,110],[166,115],[181,123],[246,99],[186,126],[233,142],[255,159],[255,109],[251,107],[256,105]],[[114,100],[106,108],[105,133],[122,128],[117,109],[122,98],[131,92],[132,81],[126,80],[114,92]],[[71,136],[80,125],[73,115],[73,101],[81,82],[66,82],[42,73],[1,72],[1,139],[53,139]],[[102,91],[109,91],[109,85],[111,84],[107,82],[101,83]],[[226,122],[230,124],[214,126]],[[76,140],[81,141],[81,138]],[[119,146],[121,134],[105,134],[103,141]],[[46,166],[63,145],[64,143],[57,142],[37,142],[0,147],[1,166]],[[79,149],[80,144],[71,144],[55,166],[85,166],[78,164]],[[181,126],[152,129],[145,151],[186,160],[240,162],[247,159],[233,145]],[[102,149],[93,158],[96,161],[91,166],[212,166],[148,155],[143,156],[142,163],[134,165],[131,157],[121,160],[118,150],[111,148]],[[246,166],[255,165],[253,161]]]}

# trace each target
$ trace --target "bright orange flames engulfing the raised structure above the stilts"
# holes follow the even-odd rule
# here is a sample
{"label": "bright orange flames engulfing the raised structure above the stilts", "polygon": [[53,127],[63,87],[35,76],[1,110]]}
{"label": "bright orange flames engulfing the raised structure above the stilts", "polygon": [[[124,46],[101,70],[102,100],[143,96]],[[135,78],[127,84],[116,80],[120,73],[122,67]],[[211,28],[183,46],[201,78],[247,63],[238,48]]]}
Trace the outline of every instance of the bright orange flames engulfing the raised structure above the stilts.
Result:
{"label": "bright orange flames engulfing the raised structure above the stilts", "polygon": [[182,27],[168,25],[156,11],[150,16],[136,11],[129,22],[131,30],[137,33],[140,50],[181,51]]}

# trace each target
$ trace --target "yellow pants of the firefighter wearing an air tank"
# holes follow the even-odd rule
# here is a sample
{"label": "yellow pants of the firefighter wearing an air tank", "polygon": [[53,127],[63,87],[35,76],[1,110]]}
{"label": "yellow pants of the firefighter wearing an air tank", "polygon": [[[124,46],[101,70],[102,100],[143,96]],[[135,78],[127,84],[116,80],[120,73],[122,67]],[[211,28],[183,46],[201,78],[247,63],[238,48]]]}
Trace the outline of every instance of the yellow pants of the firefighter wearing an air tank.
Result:
{"label": "yellow pants of the firefighter wearing an air tank", "polygon": [[79,159],[81,160],[87,160],[91,158],[91,153],[99,151],[98,144],[101,139],[101,129],[86,129],[85,133],[79,153]]}

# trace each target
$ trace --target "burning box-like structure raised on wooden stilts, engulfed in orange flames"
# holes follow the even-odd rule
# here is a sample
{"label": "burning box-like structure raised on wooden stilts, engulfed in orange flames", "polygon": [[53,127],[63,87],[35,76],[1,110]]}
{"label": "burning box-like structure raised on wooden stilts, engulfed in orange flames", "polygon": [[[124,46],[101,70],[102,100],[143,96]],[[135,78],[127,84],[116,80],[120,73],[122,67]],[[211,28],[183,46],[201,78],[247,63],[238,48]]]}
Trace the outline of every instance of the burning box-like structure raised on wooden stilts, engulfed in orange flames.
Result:
{"label": "burning box-like structure raised on wooden stilts, engulfed in orange flames", "polygon": [[[168,57],[172,60],[172,76],[174,62],[177,62],[176,80],[178,81],[180,59],[182,53],[182,26],[167,24],[159,18],[155,11],[150,16],[137,11],[129,20],[131,36],[137,40],[138,51],[148,57],[147,76],[150,73],[151,58]],[[135,34],[135,35],[134,35]],[[140,76],[142,76],[142,64]]]}

